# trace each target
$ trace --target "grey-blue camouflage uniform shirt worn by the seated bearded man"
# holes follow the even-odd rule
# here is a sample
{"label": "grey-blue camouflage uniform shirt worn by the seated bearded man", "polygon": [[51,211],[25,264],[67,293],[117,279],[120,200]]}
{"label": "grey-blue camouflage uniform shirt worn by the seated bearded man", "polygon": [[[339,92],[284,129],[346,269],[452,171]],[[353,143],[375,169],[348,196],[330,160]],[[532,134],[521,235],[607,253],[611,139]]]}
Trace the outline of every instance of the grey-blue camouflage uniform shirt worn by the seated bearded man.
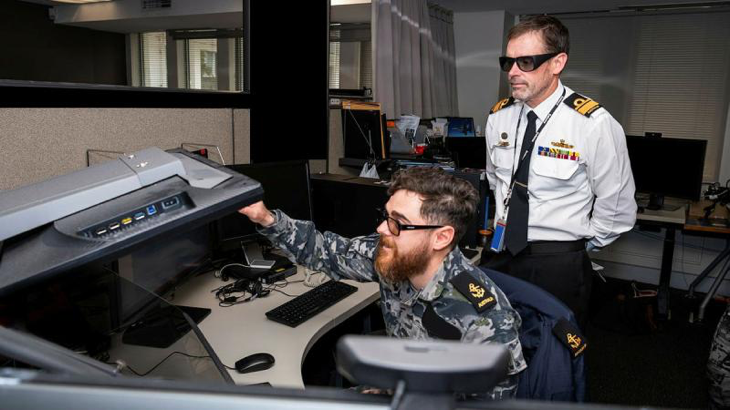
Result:
{"label": "grey-blue camouflage uniform shirt worn by the seated bearded man", "polygon": [[[466,259],[458,247],[448,254],[431,282],[418,291],[409,281],[389,283],[380,280],[374,265],[378,234],[347,239],[332,232],[320,233],[310,221],[291,219],[278,210],[273,213],[276,223],[259,232],[296,263],[324,272],[335,280],[380,282],[381,307],[389,336],[433,339],[421,320],[430,304],[440,318],[461,332],[463,342],[504,345],[510,352],[510,376],[487,392],[486,398],[514,397],[518,373],[527,367],[518,335],[520,316],[504,293]],[[497,303],[492,308],[477,313],[475,307],[454,289],[449,281],[464,271],[478,278],[495,296]]]}

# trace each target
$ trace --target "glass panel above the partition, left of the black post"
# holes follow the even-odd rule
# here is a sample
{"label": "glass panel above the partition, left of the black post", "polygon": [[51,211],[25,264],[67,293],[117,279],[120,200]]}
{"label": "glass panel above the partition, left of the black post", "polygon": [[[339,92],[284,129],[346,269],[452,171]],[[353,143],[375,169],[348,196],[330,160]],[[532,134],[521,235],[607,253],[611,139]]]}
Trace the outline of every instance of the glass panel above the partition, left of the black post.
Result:
{"label": "glass panel above the partition, left of the black post", "polygon": [[[248,4],[247,0],[179,2],[173,10],[163,2],[148,3],[141,8],[139,1],[0,2],[0,16],[13,16],[4,21],[7,24],[3,28],[14,34],[3,43],[10,45],[3,49],[3,57],[12,64],[0,64],[0,82],[20,80],[155,88],[182,85],[185,88],[188,67],[184,64],[188,56],[182,49],[167,47],[171,33],[184,28],[186,31],[217,32],[211,37],[231,38],[226,31],[237,31],[236,35],[240,36],[245,21],[244,3]],[[205,3],[205,6],[198,3]],[[49,16],[52,16],[50,20]],[[197,37],[176,37],[183,38]],[[235,68],[243,64],[243,43],[239,43],[236,44],[239,50],[232,44],[225,58],[216,56],[221,51],[199,49],[191,59],[193,63],[198,62],[192,70],[197,75],[191,79],[191,88],[244,89],[243,70]],[[222,63],[230,66],[230,71],[224,71],[225,76],[215,72],[215,68],[220,71],[222,67],[217,66]]]}

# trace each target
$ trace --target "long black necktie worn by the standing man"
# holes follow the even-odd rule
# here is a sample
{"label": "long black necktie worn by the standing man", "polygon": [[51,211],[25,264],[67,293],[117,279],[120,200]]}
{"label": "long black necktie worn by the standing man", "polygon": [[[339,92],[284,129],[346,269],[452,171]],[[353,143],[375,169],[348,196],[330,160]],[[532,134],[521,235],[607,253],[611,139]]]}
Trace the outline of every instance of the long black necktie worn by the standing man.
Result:
{"label": "long black necktie worn by the standing man", "polygon": [[[527,247],[527,221],[530,216],[530,204],[527,195],[527,179],[530,175],[530,157],[535,141],[537,114],[534,111],[527,113],[527,129],[522,138],[522,150],[517,157],[517,172],[515,173],[514,189],[509,201],[509,215],[507,216],[507,231],[504,244],[512,255],[517,255]],[[524,155],[525,160],[519,161]]]}

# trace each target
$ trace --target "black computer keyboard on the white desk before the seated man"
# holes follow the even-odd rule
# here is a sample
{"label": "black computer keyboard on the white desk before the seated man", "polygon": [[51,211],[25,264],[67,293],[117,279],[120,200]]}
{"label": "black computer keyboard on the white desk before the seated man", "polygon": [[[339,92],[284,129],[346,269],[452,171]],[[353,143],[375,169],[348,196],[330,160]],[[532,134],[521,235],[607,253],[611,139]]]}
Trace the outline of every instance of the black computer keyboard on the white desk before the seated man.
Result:
{"label": "black computer keyboard on the white desk before the seated man", "polygon": [[319,312],[357,291],[343,282],[325,282],[312,290],[266,312],[266,317],[291,327],[297,327]]}

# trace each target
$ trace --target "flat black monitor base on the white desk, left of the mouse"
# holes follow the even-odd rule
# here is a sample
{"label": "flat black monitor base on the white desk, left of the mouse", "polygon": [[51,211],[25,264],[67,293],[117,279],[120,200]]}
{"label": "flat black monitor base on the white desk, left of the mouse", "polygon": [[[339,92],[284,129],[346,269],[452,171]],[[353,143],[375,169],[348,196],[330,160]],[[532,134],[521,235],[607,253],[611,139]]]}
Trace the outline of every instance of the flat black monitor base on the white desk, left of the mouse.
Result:
{"label": "flat black monitor base on the white desk, left of the mouse", "polygon": [[210,314],[210,309],[172,305],[155,308],[127,327],[122,342],[160,349],[170,347],[191,330],[182,312],[198,324]]}

